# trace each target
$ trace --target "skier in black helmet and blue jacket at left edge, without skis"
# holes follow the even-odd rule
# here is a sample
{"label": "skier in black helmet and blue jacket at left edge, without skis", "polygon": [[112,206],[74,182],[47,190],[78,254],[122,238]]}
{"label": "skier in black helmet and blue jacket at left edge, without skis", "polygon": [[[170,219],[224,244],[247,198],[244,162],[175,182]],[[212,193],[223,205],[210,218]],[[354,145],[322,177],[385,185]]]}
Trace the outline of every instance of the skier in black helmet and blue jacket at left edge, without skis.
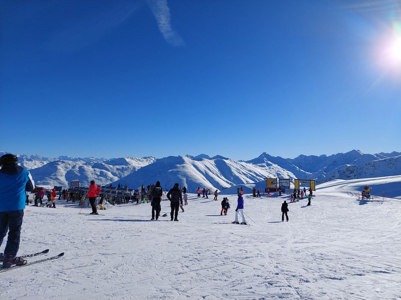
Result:
{"label": "skier in black helmet and blue jacket at left edge, without skis", "polygon": [[35,182],[31,173],[18,165],[18,158],[13,154],[0,157],[0,246],[7,235],[8,239],[4,254],[0,253],[3,268],[13,264],[25,264],[26,260],[17,257],[24,215],[25,191],[32,191]]}

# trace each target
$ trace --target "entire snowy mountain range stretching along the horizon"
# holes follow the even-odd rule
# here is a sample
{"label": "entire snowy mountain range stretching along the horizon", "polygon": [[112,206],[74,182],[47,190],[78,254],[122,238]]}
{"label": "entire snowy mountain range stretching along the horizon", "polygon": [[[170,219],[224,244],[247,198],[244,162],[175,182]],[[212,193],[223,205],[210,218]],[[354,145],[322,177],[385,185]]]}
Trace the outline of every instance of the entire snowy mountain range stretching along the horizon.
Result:
{"label": "entire snowy mountain range stretching along the horizon", "polygon": [[[0,151],[0,155],[5,153]],[[88,186],[91,180],[95,180],[99,185],[121,183],[138,188],[159,180],[164,189],[178,182],[192,191],[198,186],[223,190],[235,185],[263,182],[264,178],[316,179],[319,184],[335,179],[401,175],[400,152],[363,154],[352,150],[330,156],[299,155],[294,159],[264,152],[248,161],[206,154],[158,159],[17,156],[20,165],[30,170],[37,185],[63,187],[69,186],[70,181],[78,180],[81,186]]]}

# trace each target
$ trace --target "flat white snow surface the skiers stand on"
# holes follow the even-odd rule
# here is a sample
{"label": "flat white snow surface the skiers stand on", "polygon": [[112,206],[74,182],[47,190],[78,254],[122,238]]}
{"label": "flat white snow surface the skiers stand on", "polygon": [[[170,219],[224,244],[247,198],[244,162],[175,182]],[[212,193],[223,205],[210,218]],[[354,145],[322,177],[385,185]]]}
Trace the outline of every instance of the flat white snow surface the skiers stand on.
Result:
{"label": "flat white snow surface the skiers stand on", "polygon": [[[400,176],[369,184],[384,181],[401,186]],[[289,203],[289,222],[280,213],[289,195],[246,194],[251,226],[231,223],[236,195],[220,216],[222,196],[189,194],[179,222],[168,201],[158,221],[149,203],[107,205],[97,216],[63,201],[29,206],[18,254],[65,256],[0,274],[0,299],[400,299],[401,201],[358,200],[360,186],[317,186],[311,206]]]}

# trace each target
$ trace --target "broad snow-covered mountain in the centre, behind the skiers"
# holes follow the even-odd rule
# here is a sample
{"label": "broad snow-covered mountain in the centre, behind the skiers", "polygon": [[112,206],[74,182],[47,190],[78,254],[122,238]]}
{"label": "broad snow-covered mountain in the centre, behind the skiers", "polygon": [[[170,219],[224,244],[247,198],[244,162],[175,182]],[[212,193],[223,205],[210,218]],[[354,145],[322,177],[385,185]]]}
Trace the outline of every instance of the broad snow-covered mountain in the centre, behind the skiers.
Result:
{"label": "broad snow-covered mountain in the centre, behind the skiers", "polygon": [[169,156],[156,159],[154,163],[113,182],[113,185],[127,183],[130,187],[138,188],[142,184],[159,180],[163,189],[170,189],[177,182],[195,192],[198,186],[222,190],[235,184],[261,181],[266,177],[288,178],[294,177],[294,174],[275,164],[267,166],[227,158],[192,159],[189,156]]}

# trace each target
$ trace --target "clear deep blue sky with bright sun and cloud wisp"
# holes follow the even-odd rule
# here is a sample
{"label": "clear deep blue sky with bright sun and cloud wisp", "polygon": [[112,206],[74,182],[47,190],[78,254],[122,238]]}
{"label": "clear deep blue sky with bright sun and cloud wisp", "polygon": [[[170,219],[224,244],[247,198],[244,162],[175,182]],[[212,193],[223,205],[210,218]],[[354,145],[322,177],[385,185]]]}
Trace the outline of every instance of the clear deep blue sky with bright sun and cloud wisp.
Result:
{"label": "clear deep blue sky with bright sun and cloud wisp", "polygon": [[3,0],[0,22],[2,151],[401,151],[400,1]]}

